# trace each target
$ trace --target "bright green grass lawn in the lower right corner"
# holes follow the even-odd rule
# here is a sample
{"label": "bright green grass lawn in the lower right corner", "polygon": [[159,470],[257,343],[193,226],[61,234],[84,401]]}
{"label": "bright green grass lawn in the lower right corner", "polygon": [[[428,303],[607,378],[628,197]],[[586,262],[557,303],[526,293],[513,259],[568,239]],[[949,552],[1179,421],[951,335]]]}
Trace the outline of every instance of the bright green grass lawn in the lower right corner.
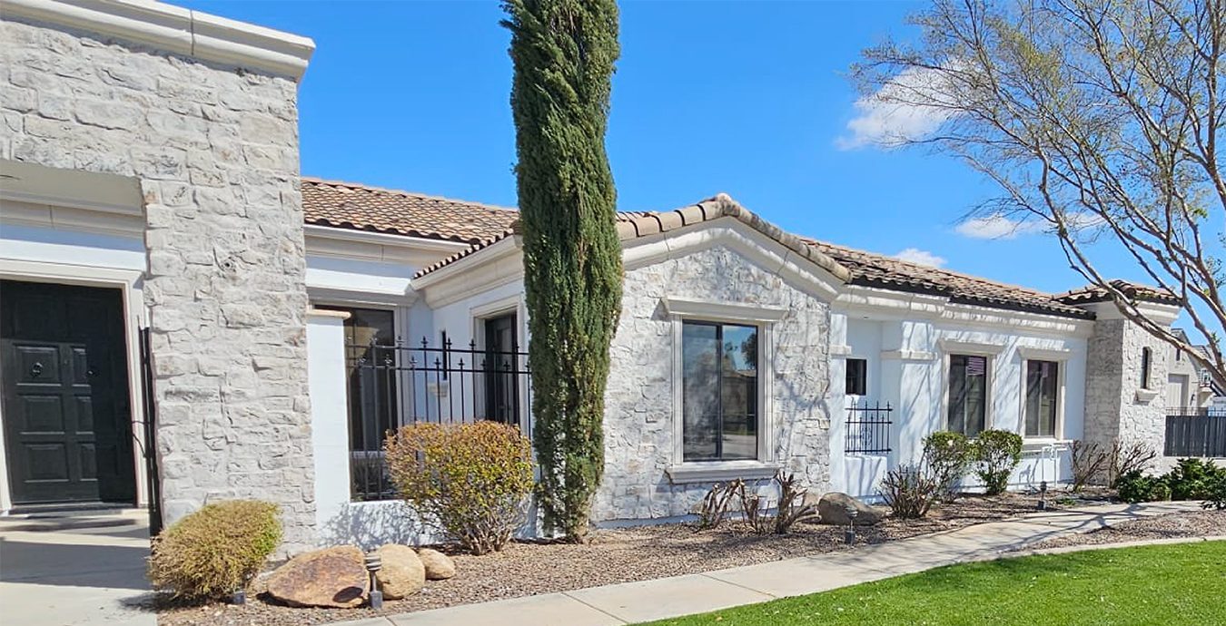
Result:
{"label": "bright green grass lawn in the lower right corner", "polygon": [[1226,625],[1226,541],[954,565],[652,624]]}

